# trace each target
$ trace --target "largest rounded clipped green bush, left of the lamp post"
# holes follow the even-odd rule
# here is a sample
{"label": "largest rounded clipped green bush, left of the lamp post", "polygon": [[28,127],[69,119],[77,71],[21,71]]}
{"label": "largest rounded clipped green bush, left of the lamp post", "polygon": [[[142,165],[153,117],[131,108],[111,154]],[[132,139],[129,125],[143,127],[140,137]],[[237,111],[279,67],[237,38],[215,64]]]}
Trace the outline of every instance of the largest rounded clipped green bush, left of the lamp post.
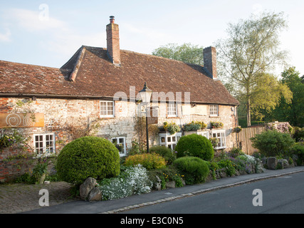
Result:
{"label": "largest rounded clipped green bush, left of the lamp post", "polygon": [[109,140],[86,136],[63,147],[56,170],[61,180],[79,185],[88,177],[102,180],[120,173],[120,155]]}

